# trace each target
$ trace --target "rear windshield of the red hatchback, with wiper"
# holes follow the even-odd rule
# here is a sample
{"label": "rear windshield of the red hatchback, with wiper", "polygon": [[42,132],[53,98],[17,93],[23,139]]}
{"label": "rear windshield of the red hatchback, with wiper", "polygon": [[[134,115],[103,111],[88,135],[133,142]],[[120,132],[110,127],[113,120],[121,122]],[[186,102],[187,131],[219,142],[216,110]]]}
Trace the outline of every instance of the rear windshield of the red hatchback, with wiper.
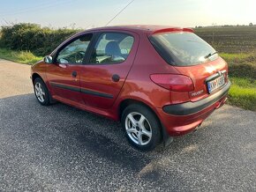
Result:
{"label": "rear windshield of the red hatchback, with wiper", "polygon": [[194,33],[160,33],[149,39],[162,58],[172,65],[197,65],[218,58],[215,48]]}

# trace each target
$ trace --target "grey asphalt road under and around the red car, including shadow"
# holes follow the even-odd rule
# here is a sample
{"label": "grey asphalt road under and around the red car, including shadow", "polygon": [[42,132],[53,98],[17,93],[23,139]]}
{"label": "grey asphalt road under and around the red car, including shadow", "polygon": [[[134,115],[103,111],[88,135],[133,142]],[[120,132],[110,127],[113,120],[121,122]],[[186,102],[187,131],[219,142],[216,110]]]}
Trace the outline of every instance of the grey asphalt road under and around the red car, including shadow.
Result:
{"label": "grey asphalt road under and around the red car, including shadow", "polygon": [[118,122],[34,97],[30,67],[0,61],[0,191],[256,191],[256,113],[224,106],[165,150]]}

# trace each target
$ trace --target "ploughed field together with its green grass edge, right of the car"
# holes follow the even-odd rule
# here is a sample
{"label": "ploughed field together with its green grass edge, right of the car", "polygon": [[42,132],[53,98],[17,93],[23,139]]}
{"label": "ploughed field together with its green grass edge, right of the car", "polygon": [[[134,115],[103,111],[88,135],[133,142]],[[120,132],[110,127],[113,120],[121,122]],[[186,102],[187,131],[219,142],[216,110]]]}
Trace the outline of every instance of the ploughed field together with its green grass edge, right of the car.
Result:
{"label": "ploughed field together with its green grass edge, right of the car", "polygon": [[195,29],[229,64],[229,103],[256,111],[256,27],[226,26]]}

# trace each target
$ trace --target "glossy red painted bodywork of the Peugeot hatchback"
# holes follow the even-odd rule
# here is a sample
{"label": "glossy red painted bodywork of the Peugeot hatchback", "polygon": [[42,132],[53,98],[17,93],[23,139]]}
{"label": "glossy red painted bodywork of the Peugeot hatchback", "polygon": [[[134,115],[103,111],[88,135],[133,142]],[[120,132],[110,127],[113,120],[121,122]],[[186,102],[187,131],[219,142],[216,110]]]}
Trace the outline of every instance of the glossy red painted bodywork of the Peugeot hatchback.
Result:
{"label": "glossy red painted bodywork of the Peugeot hatchback", "polygon": [[[148,41],[148,36],[154,33],[170,31],[172,33],[176,31],[192,33],[191,29],[166,28],[163,26],[114,26],[92,29],[84,33],[105,31],[129,33],[134,37],[131,53],[124,63],[72,65],[40,62],[32,67],[32,74],[41,76],[54,99],[95,114],[102,114],[114,120],[120,119],[119,107],[124,100],[139,101],[154,111],[171,136],[182,135],[195,129],[215,108],[221,107],[225,102],[226,97],[223,97],[210,107],[204,108],[196,114],[184,116],[166,114],[162,110],[162,107],[166,105],[206,98],[208,93],[204,82],[205,79],[215,74],[217,70],[228,70],[227,63],[222,58],[214,62],[189,67],[171,66],[162,59],[162,56],[155,51],[150,41]],[[67,41],[72,40],[72,38]],[[76,78],[72,77],[72,71],[74,70],[78,73]],[[114,74],[120,77],[118,82],[112,80]],[[164,86],[162,87],[162,85],[157,85],[158,83],[151,79],[153,74],[171,74],[174,77],[184,76],[192,81],[184,80],[185,84],[188,85],[185,87],[189,88],[186,90],[181,86],[180,89],[183,91],[178,92],[178,87],[173,91],[164,88]],[[191,85],[190,82],[193,84]],[[53,87],[50,83],[68,85],[91,92],[112,95],[113,97],[105,98],[93,94],[64,90]],[[188,90],[191,92],[188,92]],[[192,97],[192,92],[200,92],[201,90],[203,90],[202,94]]]}

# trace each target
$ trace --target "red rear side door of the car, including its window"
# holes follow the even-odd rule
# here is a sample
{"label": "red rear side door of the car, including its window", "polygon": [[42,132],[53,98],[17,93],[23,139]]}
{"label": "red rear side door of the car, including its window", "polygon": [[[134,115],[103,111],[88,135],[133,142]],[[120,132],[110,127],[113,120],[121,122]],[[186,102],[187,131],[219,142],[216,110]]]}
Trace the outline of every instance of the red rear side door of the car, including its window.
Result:
{"label": "red rear side door of the car, including its window", "polygon": [[132,67],[139,44],[136,33],[102,32],[80,70],[82,98],[88,107],[109,108]]}

